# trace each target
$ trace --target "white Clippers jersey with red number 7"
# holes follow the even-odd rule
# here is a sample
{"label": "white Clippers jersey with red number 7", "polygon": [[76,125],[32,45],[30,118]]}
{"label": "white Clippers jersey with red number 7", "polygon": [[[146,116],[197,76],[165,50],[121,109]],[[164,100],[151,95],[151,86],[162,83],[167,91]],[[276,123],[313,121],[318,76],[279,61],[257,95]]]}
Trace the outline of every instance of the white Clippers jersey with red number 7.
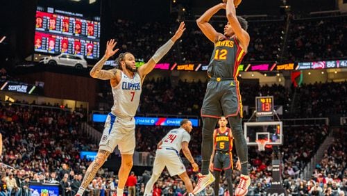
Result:
{"label": "white Clippers jersey with red number 7", "polygon": [[134,78],[130,79],[121,72],[121,81],[112,87],[113,106],[112,113],[117,117],[134,117],[139,106],[142,86],[141,77],[136,72]]}

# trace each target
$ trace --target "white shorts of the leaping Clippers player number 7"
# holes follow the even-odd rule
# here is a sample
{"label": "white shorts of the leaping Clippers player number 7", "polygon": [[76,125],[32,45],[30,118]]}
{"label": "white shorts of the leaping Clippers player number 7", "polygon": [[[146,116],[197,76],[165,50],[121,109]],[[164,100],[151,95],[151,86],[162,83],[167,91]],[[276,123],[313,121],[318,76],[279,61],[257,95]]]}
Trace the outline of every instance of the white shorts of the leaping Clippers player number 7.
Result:
{"label": "white shorts of the leaping Clippers player number 7", "polygon": [[121,154],[134,154],[135,119],[133,117],[120,118],[108,113],[99,149],[112,153],[117,145]]}

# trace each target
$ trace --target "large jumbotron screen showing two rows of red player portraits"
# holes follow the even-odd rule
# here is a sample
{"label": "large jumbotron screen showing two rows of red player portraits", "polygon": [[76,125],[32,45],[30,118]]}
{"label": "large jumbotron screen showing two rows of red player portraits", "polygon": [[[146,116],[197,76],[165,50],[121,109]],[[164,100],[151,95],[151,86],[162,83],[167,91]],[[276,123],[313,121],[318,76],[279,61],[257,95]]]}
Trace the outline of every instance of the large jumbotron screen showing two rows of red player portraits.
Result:
{"label": "large jumbotron screen showing two rows of red player portraits", "polygon": [[35,21],[36,52],[99,58],[100,22],[84,19],[79,13],[42,7],[37,8]]}

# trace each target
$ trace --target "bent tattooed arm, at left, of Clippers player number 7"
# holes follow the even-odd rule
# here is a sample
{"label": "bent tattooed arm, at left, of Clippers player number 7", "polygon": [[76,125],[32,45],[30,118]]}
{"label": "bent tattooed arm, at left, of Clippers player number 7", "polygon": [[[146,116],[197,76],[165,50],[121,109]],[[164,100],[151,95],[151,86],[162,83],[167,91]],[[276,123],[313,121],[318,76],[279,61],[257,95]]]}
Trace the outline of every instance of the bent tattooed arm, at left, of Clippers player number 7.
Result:
{"label": "bent tattooed arm, at left, of Clippers player number 7", "polygon": [[105,64],[106,60],[108,60],[108,58],[110,58],[111,56],[116,54],[117,51],[119,51],[119,49],[114,50],[116,44],[117,44],[117,42],[115,42],[114,39],[108,40],[108,42],[106,44],[105,55],[103,56],[103,58],[101,58],[99,60],[98,63],[96,63],[94,65],[92,70],[90,70],[90,76],[92,76],[95,79],[101,79],[101,80],[115,79],[115,77],[117,75],[116,69],[102,70],[102,68],[103,68],[103,65]]}

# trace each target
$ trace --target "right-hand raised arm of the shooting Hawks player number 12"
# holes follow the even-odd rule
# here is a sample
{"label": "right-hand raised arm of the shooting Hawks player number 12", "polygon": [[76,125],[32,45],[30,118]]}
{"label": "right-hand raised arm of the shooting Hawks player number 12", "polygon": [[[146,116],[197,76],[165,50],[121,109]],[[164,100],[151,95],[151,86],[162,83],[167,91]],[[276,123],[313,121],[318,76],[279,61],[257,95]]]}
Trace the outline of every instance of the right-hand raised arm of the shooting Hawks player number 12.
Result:
{"label": "right-hand raised arm of the shooting Hawks player number 12", "polygon": [[250,38],[246,31],[247,29],[242,28],[239,19],[237,19],[234,0],[228,0],[226,3],[226,17],[242,49],[247,52]]}

